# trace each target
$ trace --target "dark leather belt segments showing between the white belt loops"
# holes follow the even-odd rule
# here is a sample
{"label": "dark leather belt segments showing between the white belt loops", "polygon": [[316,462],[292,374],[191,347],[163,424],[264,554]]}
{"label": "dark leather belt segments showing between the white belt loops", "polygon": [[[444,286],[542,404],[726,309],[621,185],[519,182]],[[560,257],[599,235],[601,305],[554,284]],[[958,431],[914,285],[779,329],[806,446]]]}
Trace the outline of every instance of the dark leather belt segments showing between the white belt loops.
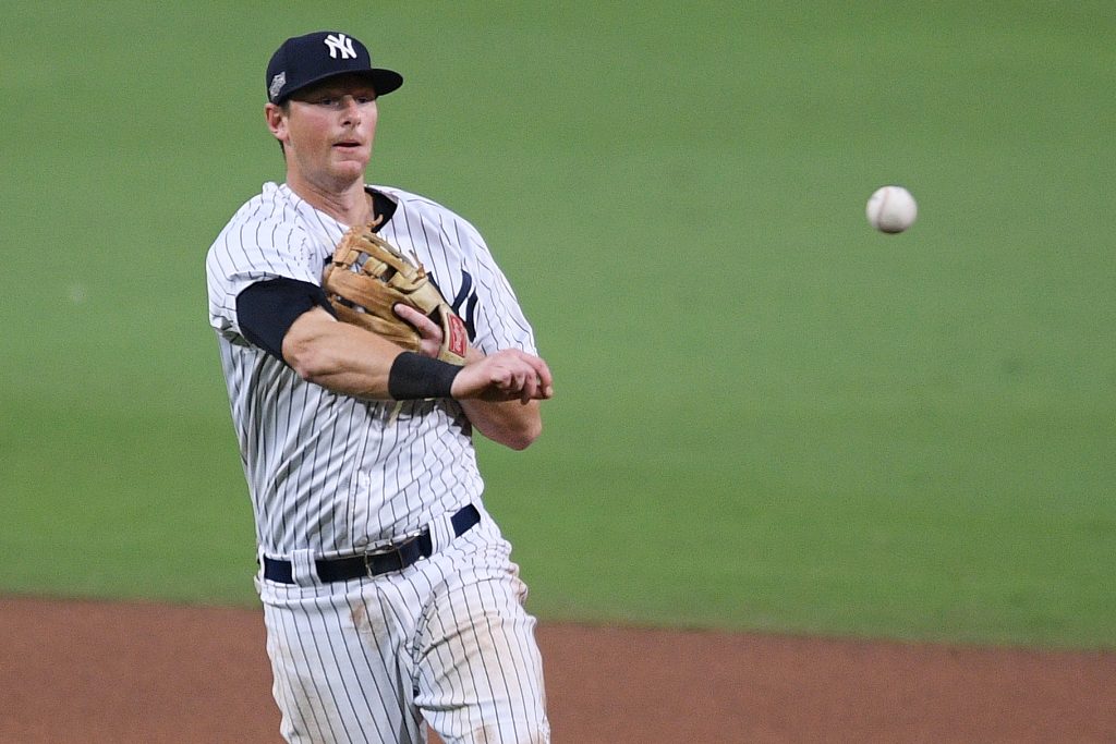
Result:
{"label": "dark leather belt segments showing between the white belt loops", "polygon": [[[453,534],[460,538],[481,521],[477,508],[469,504],[450,518]],[[362,577],[379,576],[392,571],[402,571],[412,563],[434,553],[434,542],[430,538],[430,528],[404,542],[389,545],[384,550],[352,558],[329,558],[314,561],[318,578],[325,582],[348,581]],[[290,561],[263,557],[263,578],[279,583],[295,583]]]}

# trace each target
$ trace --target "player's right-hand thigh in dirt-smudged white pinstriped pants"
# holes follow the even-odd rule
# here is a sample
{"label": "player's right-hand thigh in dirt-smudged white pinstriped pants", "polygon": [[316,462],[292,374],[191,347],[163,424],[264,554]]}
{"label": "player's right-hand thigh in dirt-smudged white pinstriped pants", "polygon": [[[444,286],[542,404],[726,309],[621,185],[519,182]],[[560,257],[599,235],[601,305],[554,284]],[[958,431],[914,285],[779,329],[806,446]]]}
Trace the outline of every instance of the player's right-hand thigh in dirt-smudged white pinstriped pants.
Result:
{"label": "player's right-hand thigh in dirt-smudged white pinstriped pants", "polygon": [[549,741],[536,620],[514,567],[464,572],[420,632],[415,703],[446,744]]}

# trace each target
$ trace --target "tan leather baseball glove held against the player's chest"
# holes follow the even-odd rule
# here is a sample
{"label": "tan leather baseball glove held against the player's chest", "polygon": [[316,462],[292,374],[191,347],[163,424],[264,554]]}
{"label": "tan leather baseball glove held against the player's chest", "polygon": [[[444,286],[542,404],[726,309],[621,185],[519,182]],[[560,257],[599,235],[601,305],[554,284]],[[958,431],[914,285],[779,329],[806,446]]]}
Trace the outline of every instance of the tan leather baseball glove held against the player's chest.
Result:
{"label": "tan leather baseball glove held against the player's chest", "polygon": [[341,238],[321,277],[339,320],[360,326],[411,351],[422,340],[417,329],[395,315],[396,302],[408,305],[442,328],[437,358],[465,364],[469,337],[465,323],[442,297],[416,260],[372,231],[356,225]]}

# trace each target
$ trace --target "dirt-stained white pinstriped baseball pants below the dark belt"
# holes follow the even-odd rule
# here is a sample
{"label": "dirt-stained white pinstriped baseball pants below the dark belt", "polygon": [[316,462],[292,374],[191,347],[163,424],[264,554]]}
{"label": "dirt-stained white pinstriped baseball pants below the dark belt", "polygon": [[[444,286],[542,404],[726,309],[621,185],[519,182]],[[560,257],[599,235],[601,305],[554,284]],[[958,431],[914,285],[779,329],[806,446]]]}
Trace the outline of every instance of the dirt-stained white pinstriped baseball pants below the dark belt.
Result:
{"label": "dirt-stained white pinstriped baseball pants below the dark belt", "polygon": [[437,542],[430,559],[375,578],[258,579],[286,741],[421,744],[427,723],[446,744],[550,741],[510,545],[487,514]]}

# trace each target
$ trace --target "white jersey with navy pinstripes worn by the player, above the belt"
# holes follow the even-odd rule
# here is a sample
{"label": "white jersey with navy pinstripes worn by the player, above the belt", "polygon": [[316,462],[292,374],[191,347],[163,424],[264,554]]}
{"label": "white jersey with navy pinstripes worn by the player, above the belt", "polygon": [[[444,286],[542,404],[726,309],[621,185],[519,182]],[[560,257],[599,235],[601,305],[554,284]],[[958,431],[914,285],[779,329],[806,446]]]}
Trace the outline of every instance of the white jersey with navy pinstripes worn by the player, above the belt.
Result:
{"label": "white jersey with navy pinstripes worn by the player, above the belt", "polygon": [[[450,210],[374,186],[397,207],[381,235],[413,252],[466,321],[472,345],[536,352],[533,334],[478,231]],[[218,334],[260,549],[353,553],[387,542],[471,501],[483,489],[470,426],[453,400],[363,402],[302,380],[248,342],[237,294],[286,277],[321,283],[348,225],[286,184],[264,184],[206,257],[210,323]]]}

